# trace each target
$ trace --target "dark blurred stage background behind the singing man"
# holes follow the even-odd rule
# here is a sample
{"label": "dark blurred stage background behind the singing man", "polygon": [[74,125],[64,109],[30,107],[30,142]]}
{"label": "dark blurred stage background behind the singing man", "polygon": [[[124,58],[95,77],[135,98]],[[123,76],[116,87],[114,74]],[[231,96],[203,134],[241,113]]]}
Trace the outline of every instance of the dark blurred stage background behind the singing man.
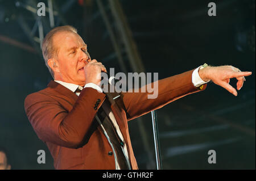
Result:
{"label": "dark blurred stage background behind the singing man", "polygon": [[[16,1],[0,0],[0,145],[9,152],[13,169],[54,169],[46,145],[36,136],[24,112],[24,99],[47,86],[51,75],[38,43],[28,36],[36,16]],[[38,2],[19,1],[37,9]],[[108,1],[102,1],[111,20]],[[233,65],[253,71],[235,97],[213,83],[205,91],[177,100],[156,111],[163,169],[255,169],[255,0],[120,1],[147,72],[159,79],[209,65]],[[217,16],[208,16],[215,2]],[[70,24],[88,44],[92,58],[121,71],[96,1],[54,1],[59,25]],[[22,20],[20,20],[22,17]],[[43,17],[49,22],[48,13]],[[44,35],[49,27],[44,26]],[[38,32],[35,33],[38,36]],[[120,43],[122,45],[122,42]],[[125,53],[123,58],[131,72]],[[236,86],[236,80],[230,82]],[[129,121],[139,169],[155,169],[151,114]],[[46,150],[46,164],[37,151]],[[208,150],[217,163],[208,163]],[[68,159],[68,158],[67,158]]]}

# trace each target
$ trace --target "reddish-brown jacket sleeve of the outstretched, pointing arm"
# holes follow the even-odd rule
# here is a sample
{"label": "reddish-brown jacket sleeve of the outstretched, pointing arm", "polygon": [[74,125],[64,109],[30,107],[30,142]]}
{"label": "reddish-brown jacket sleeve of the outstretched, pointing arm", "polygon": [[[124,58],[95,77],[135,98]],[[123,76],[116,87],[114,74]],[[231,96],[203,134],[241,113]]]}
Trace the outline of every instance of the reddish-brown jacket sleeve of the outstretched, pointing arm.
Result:
{"label": "reddish-brown jacket sleeve of the outstretched, pointing arm", "polygon": [[[157,90],[158,96],[155,99],[148,99],[150,94],[146,92],[123,92],[123,104],[126,109],[127,120],[135,119],[150,111],[159,109],[174,100],[180,99],[185,95],[205,90],[207,84],[197,88],[192,83],[193,70],[177,74],[172,77],[159,80]],[[147,85],[146,85],[147,86]],[[154,87],[154,83],[150,83]]]}

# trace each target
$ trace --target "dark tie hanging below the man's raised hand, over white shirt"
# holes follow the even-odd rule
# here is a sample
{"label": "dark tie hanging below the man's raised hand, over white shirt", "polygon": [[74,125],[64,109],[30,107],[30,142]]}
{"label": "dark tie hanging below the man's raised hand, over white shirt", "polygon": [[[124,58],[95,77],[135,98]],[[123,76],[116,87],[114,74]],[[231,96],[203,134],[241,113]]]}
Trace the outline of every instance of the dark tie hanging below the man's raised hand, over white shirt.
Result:
{"label": "dark tie hanging below the man's raised hand, over white shirt", "polygon": [[[102,103],[102,104],[108,104],[107,106],[110,106],[110,103],[108,102],[107,99],[105,99],[104,103]],[[127,160],[126,160],[125,155],[123,154],[123,150],[121,148],[121,146],[123,147],[123,141],[118,136],[118,133],[117,133],[116,129],[114,128],[114,125],[113,125],[112,121],[110,120],[109,115],[107,113],[105,113],[102,106],[98,109],[97,115],[100,118],[101,124],[104,127],[104,129],[106,130],[106,133],[109,136],[109,140],[114,147],[114,151],[117,155],[117,162],[119,164],[120,169],[128,170],[129,166],[127,164]]]}

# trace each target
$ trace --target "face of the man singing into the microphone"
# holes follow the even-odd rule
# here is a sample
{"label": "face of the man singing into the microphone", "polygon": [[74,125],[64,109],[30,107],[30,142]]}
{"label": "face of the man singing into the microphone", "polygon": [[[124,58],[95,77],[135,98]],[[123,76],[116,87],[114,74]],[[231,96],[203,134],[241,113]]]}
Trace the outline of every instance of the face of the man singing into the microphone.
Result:
{"label": "face of the man singing into the microphone", "polygon": [[59,32],[53,37],[53,46],[58,50],[55,80],[84,86],[84,66],[91,60],[82,38],[76,33]]}

